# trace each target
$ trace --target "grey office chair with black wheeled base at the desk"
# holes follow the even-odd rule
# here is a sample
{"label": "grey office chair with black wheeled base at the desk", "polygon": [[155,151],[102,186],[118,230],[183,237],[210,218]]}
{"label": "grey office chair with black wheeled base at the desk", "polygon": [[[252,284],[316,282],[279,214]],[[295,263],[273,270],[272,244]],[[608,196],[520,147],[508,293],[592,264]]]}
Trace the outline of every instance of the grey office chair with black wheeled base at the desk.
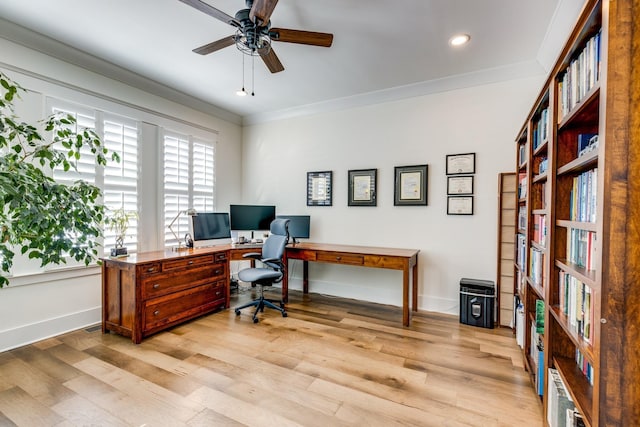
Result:
{"label": "grey office chair with black wheeled base at the desk", "polygon": [[250,282],[259,287],[260,297],[240,307],[236,307],[236,316],[240,315],[240,310],[246,307],[255,307],[253,313],[253,323],[258,323],[258,312],[264,312],[264,308],[269,307],[282,313],[282,317],[287,317],[282,300],[278,301],[280,306],[274,304],[273,300],[264,297],[264,287],[272,286],[274,283],[282,281],[287,272],[282,261],[284,257],[284,248],[289,241],[289,231],[287,226],[288,219],[276,219],[271,222],[271,235],[267,237],[262,245],[262,253],[251,252],[244,254],[244,258],[251,258],[262,262],[264,267],[245,268],[238,273],[238,278],[243,282]]}

